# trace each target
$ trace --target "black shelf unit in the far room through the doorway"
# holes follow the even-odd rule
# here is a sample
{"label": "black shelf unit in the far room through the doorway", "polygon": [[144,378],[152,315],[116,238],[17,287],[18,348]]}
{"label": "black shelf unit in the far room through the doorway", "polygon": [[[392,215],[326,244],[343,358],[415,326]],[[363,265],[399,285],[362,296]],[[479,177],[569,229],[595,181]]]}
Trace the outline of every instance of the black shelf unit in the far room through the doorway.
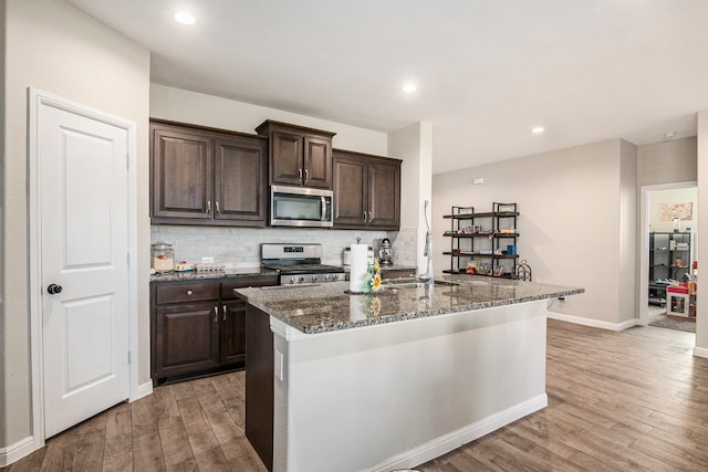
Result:
{"label": "black shelf unit in the far room through the doorway", "polygon": [[669,280],[683,282],[690,275],[690,232],[649,233],[649,303],[666,304],[666,287]]}

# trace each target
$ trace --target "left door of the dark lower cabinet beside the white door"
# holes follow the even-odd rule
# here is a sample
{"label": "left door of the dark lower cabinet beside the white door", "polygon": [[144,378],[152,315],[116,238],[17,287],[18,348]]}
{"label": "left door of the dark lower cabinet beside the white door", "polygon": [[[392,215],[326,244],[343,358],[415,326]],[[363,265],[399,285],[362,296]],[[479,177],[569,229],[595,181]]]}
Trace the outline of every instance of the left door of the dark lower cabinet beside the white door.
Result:
{"label": "left door of the dark lower cabinet beside the white door", "polygon": [[155,308],[155,377],[219,366],[218,307],[215,301]]}

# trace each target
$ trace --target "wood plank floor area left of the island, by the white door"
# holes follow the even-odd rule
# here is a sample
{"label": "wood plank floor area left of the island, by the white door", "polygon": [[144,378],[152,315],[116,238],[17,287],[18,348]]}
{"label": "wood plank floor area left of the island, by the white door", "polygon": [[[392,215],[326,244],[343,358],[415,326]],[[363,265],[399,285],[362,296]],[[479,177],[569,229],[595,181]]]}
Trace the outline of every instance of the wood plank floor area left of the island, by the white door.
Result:
{"label": "wood plank floor area left of the island, by the white door", "polygon": [[246,373],[157,387],[3,471],[264,471],[244,436]]}

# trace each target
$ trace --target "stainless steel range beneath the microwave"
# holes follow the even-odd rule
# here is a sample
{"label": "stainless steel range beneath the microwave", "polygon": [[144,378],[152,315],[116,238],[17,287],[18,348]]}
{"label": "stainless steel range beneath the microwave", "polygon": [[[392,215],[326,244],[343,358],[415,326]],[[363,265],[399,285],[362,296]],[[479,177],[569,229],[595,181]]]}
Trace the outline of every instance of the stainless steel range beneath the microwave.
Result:
{"label": "stainless steel range beneath the microwave", "polygon": [[261,265],[280,272],[280,284],[337,282],[344,269],[322,264],[322,244],[261,244]]}

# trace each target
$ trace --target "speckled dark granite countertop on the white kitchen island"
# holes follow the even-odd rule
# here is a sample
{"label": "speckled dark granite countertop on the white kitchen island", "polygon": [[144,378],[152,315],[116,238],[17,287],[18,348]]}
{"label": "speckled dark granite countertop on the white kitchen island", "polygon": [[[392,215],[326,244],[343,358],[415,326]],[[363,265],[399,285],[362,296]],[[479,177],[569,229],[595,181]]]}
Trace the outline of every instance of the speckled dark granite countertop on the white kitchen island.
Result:
{"label": "speckled dark granite countertop on the white kitchen island", "polygon": [[348,295],[348,282],[239,289],[248,303],[305,334],[555,298],[584,289],[509,279],[439,275],[430,291],[398,279],[378,292]]}

